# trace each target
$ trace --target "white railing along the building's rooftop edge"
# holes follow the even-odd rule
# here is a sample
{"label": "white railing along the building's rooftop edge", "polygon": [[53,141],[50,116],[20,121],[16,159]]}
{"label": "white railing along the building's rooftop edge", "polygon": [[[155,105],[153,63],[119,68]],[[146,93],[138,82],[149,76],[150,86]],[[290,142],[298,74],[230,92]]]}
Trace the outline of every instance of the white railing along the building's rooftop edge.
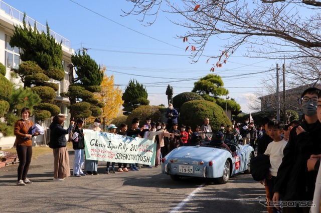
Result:
{"label": "white railing along the building's rooftop edge", "polygon": [[[24,18],[24,13],[19,11],[18,9],[10,6],[9,4],[5,3],[4,1],[0,0],[0,9],[4,10],[7,14],[9,14],[11,17],[23,21]],[[26,23],[34,27],[35,23],[37,26],[38,31],[42,32],[44,31],[45,33],[47,32],[47,26],[39,23],[38,21],[34,20],[33,18],[29,17],[26,15]],[[55,31],[50,29],[49,32],[58,42],[62,41],[62,44],[70,48],[70,40],[67,38],[61,36],[60,34],[56,33]]]}

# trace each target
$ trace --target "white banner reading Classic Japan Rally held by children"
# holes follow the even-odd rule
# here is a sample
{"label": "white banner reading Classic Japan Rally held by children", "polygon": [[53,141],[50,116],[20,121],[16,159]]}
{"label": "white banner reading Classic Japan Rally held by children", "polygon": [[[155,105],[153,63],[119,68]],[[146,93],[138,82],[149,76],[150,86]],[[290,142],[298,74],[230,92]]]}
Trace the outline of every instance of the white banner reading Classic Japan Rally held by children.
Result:
{"label": "white banner reading Classic Japan Rally held by children", "polygon": [[89,129],[84,133],[86,159],[150,165],[155,162],[155,135],[163,132],[150,131],[148,139]]}

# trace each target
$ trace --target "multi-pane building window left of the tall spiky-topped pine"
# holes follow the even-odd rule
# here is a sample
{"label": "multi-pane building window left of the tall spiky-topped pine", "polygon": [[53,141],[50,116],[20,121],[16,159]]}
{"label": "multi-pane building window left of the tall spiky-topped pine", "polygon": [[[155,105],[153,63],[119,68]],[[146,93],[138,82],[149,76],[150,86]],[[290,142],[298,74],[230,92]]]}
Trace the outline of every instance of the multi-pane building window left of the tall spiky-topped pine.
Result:
{"label": "multi-pane building window left of the tall spiky-topped pine", "polygon": [[21,63],[19,47],[14,46],[11,47],[10,42],[11,37],[6,35],[6,48],[5,48],[5,56],[6,56],[6,66],[8,68],[18,68]]}

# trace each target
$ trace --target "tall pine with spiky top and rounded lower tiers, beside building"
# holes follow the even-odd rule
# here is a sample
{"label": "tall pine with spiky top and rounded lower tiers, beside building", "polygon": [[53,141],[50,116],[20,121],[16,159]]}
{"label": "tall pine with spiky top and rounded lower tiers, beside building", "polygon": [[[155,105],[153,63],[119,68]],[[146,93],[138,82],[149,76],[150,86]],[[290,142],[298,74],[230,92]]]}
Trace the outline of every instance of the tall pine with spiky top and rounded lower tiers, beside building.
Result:
{"label": "tall pine with spiky top and rounded lower tiers, beside building", "polygon": [[[32,87],[43,102],[51,104],[56,97],[58,86],[54,83],[47,82],[49,78],[62,80],[65,76],[62,67],[63,51],[61,42],[57,43],[56,39],[49,32],[47,23],[47,33],[37,30],[35,23],[34,28],[26,23],[26,14],[23,18],[23,26],[16,25],[14,35],[11,37],[10,45],[17,46],[21,49],[20,57],[23,61],[18,69],[13,69],[24,82],[24,87]],[[43,105],[36,105],[36,119],[44,120],[57,113],[57,106],[51,104],[51,107],[43,108]],[[59,107],[58,107],[59,108]],[[50,111],[49,111],[50,110]],[[60,112],[60,110],[59,110]]]}

